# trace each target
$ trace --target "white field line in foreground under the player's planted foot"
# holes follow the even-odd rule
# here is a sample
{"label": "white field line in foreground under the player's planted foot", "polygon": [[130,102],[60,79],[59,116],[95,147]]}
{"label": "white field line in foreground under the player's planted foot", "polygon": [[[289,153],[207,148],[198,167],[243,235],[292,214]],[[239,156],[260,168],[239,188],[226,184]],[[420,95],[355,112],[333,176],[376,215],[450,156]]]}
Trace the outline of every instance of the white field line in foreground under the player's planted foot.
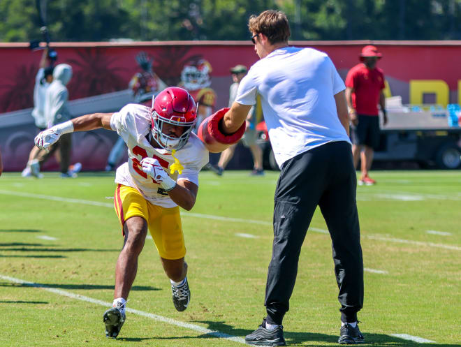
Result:
{"label": "white field line in foreground under the player's planted foot", "polygon": [[[57,289],[57,288],[48,287],[48,286],[45,286],[45,285],[43,285],[41,283],[34,283],[34,282],[24,281],[22,279],[16,279],[15,277],[4,276],[4,275],[1,275],[1,274],[0,274],[0,279],[4,279],[6,281],[10,281],[10,282],[13,282],[13,283],[23,284],[23,285],[29,286],[29,287],[41,288],[43,290],[47,290],[48,292],[51,292],[51,293],[54,293],[54,294],[63,295],[65,297],[70,297],[71,299],[81,300],[81,301],[85,301],[85,302],[91,302],[92,304],[98,304],[98,305],[101,305],[103,307],[112,307],[111,302],[105,302],[105,301],[102,301],[102,300],[93,299],[92,297],[86,297],[84,295],[74,294],[74,293],[68,292],[66,290],[61,290],[61,289]],[[167,317],[156,315],[154,313],[149,313],[149,312],[140,311],[140,310],[136,310],[136,309],[127,308],[126,311],[134,313],[134,314],[137,314],[139,316],[151,318],[153,320],[159,320],[159,321],[161,321],[163,323],[167,323],[167,324],[170,324],[170,325],[176,325],[177,327],[185,327],[186,329],[195,330],[195,331],[200,332],[202,334],[208,334],[208,335],[212,335],[214,337],[219,337],[220,339],[231,340],[231,341],[234,341],[234,342],[239,342],[240,344],[245,343],[245,340],[242,339],[242,337],[235,337],[233,335],[224,334],[224,332],[219,332],[217,330],[210,330],[210,329],[207,329],[205,327],[200,327],[199,325],[190,324],[190,323],[184,323],[184,322],[181,322],[180,320],[174,320],[172,318],[167,318]],[[102,324],[101,324],[101,329],[102,329]]]}

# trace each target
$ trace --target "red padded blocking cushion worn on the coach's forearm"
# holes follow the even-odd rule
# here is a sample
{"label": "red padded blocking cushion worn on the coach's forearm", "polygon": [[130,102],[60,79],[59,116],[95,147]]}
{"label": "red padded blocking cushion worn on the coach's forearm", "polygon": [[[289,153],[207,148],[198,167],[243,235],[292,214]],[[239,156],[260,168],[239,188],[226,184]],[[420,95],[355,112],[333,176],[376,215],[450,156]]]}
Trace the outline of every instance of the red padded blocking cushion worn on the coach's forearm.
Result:
{"label": "red padded blocking cushion worn on the coach's forearm", "polygon": [[198,127],[198,138],[202,140],[208,151],[212,153],[223,152],[224,149],[231,147],[242,138],[245,132],[245,122],[231,135],[226,135],[219,131],[219,121],[224,118],[228,110],[229,108],[221,108],[221,110],[204,119]]}

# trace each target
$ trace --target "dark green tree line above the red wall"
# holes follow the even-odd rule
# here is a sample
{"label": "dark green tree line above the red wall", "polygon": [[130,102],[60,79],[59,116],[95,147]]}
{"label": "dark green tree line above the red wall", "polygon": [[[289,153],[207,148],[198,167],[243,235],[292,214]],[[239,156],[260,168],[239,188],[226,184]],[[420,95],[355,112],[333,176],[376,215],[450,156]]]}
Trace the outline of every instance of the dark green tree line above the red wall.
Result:
{"label": "dark green tree line above the red wall", "polygon": [[[461,0],[47,0],[54,41],[248,40],[282,10],[291,40],[461,40]],[[41,38],[34,0],[1,0],[0,41]]]}

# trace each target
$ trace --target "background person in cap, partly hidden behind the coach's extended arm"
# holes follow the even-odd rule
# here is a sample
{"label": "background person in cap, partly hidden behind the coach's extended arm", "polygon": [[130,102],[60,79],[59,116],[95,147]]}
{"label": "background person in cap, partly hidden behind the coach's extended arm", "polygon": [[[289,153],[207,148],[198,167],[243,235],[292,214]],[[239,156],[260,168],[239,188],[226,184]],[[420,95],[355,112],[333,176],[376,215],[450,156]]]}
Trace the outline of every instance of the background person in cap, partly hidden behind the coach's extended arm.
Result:
{"label": "background person in cap, partly hidden behind the coach's extended arm", "polygon": [[[235,96],[237,96],[237,90],[238,90],[240,81],[245,75],[247,75],[247,72],[248,72],[247,66],[244,66],[244,65],[237,65],[231,68],[233,84],[231,84],[231,87],[229,89],[229,107],[232,106],[235,100]],[[245,134],[243,135],[242,143],[245,147],[249,147],[251,151],[251,156],[253,156],[254,168],[253,168],[253,171],[251,171],[251,175],[262,176],[264,175],[263,151],[261,150],[261,147],[259,147],[256,144],[256,139],[257,139],[258,134],[256,133],[256,111],[255,109],[256,109],[255,107],[252,107],[248,113],[248,116],[246,119],[247,128],[245,129]],[[210,170],[212,170],[214,173],[216,173],[219,176],[223,175],[224,169],[226,168],[229,161],[231,161],[235,153],[235,147],[237,147],[237,144],[232,145],[231,147],[226,149],[224,152],[222,152],[221,156],[219,156],[218,164],[217,165],[210,164],[208,168],[210,168]]]}

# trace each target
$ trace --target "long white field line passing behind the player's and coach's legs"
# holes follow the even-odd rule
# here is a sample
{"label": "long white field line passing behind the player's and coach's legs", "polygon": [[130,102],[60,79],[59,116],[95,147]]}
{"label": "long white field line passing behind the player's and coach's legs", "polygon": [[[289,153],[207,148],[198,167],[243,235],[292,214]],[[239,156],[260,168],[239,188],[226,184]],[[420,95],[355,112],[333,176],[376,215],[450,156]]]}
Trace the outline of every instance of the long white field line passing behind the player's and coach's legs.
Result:
{"label": "long white field line passing behind the player's and coach's legs", "polygon": [[[32,194],[32,193],[21,193],[17,191],[4,191],[0,189],[0,194],[6,195],[15,195],[15,196],[24,196],[24,198],[38,198],[38,199],[45,199],[45,200],[55,200],[55,201],[64,201],[64,202],[73,202],[78,204],[84,205],[93,205],[93,206],[102,206],[102,207],[110,207],[113,208],[112,204],[108,204],[107,202],[97,202],[91,200],[81,200],[81,199],[69,199],[69,198],[61,198],[59,196],[52,196],[52,195],[41,195],[41,194]],[[193,213],[193,212],[181,212],[182,216],[191,216],[197,218],[205,218],[205,219],[214,219],[217,221],[232,221],[232,222],[239,222],[239,223],[252,223],[252,224],[259,224],[262,226],[272,226],[272,222],[269,221],[256,221],[254,219],[242,219],[242,218],[231,218],[231,217],[224,217],[224,216],[214,216],[212,214],[200,214],[200,213]],[[320,228],[309,228],[309,230],[315,232],[321,232],[322,234],[328,234],[328,230],[320,229]],[[458,246],[451,246],[449,244],[434,244],[432,242],[420,242],[420,241],[412,241],[409,239],[395,239],[392,237],[381,237],[378,235],[362,235],[367,239],[376,239],[379,241],[386,241],[386,242],[397,242],[401,244],[415,244],[417,246],[429,246],[429,247],[437,247],[442,249],[451,249],[452,251],[461,251],[461,247]]]}

